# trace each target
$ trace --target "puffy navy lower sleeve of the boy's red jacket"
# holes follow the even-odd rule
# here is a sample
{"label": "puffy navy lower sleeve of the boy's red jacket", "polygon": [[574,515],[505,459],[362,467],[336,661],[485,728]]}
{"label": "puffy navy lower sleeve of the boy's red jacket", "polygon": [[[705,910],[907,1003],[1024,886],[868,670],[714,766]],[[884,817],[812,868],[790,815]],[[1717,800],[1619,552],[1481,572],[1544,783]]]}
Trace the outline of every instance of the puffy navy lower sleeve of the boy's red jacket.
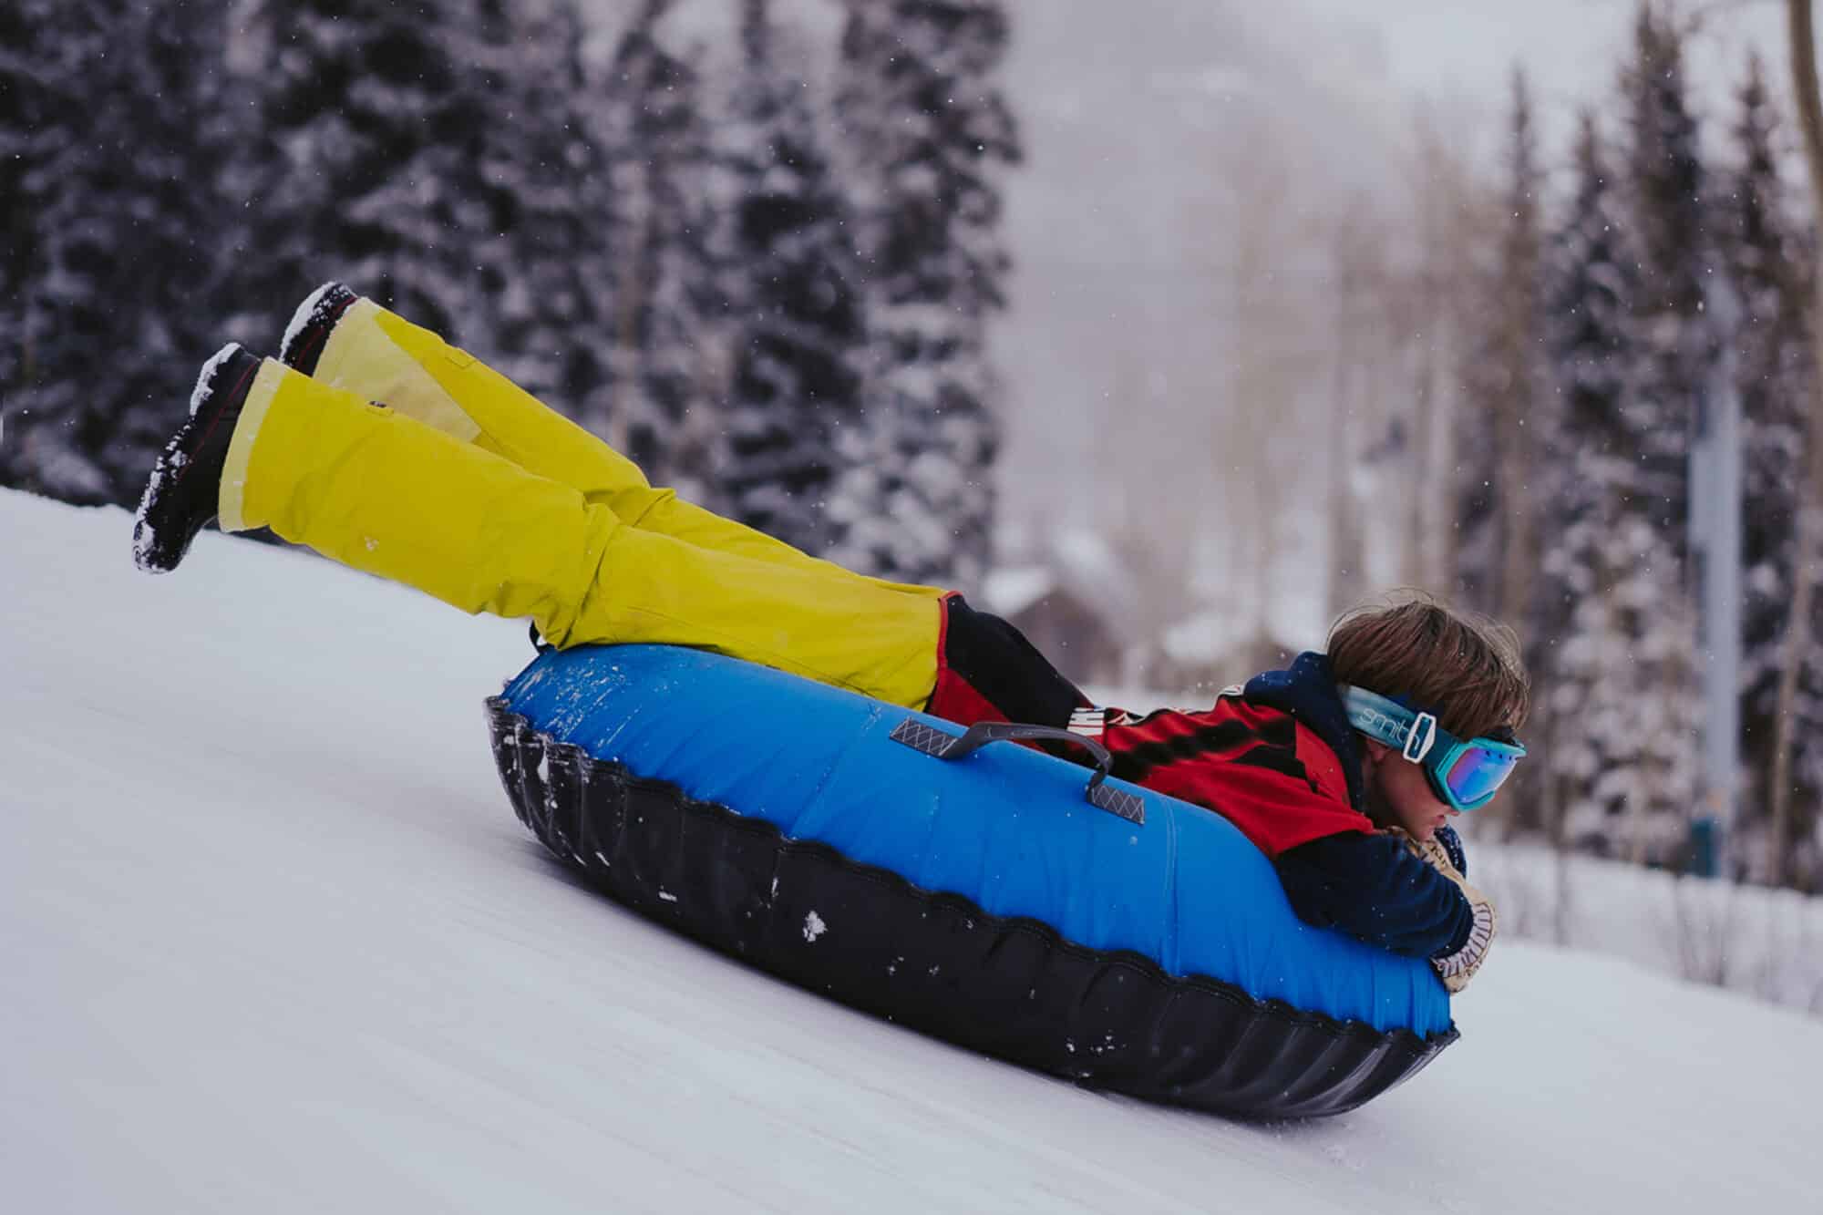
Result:
{"label": "puffy navy lower sleeve of the boy's red jacket", "polygon": [[1446,958],[1475,930],[1460,887],[1396,836],[1323,836],[1280,852],[1274,865],[1300,919],[1395,954]]}

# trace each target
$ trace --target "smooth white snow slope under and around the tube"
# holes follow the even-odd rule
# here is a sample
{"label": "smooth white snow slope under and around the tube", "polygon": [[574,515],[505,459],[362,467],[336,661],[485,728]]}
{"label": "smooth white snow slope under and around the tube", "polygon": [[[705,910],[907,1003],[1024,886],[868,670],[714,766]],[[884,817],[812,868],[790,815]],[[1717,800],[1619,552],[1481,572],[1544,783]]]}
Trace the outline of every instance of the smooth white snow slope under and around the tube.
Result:
{"label": "smooth white snow slope under and around the tube", "polygon": [[788,989],[514,821],[516,626],[128,533],[0,491],[7,1210],[1816,1210],[1823,1023],[1591,956],[1504,945],[1435,1067],[1303,1126]]}

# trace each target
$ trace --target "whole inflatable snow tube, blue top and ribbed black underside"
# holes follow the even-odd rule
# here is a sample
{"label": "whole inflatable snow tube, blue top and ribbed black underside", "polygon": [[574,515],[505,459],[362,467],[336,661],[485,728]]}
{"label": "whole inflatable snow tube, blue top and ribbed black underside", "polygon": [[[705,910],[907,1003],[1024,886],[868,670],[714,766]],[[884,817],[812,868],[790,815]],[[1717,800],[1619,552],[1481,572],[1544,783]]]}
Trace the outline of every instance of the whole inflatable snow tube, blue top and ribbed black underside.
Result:
{"label": "whole inflatable snow tube, blue top and ribbed black underside", "polygon": [[[489,701],[520,819],[634,910],[1088,1087],[1353,1109],[1457,1040],[1429,965],[1313,929],[1227,819],[675,646],[541,653]],[[897,735],[897,737],[895,737]],[[922,744],[924,750],[919,750]]]}

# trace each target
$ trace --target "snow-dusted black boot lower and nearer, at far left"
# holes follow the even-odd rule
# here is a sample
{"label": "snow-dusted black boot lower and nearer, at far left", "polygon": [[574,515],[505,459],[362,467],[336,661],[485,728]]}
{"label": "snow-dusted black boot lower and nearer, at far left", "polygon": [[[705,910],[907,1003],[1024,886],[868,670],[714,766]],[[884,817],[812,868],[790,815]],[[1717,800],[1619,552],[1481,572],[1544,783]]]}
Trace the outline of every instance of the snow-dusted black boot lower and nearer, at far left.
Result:
{"label": "snow-dusted black boot lower and nearer, at far left", "polygon": [[133,524],[133,562],[146,573],[177,569],[190,542],[215,518],[228,440],[259,365],[233,341],[202,365],[190,421],[164,445]]}

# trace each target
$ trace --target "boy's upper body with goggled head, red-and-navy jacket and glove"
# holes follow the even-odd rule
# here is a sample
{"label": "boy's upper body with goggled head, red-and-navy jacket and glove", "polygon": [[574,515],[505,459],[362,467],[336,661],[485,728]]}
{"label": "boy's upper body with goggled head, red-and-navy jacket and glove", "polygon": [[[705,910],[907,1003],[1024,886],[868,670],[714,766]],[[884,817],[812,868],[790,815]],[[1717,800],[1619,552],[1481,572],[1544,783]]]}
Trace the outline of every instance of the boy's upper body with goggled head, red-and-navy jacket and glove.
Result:
{"label": "boy's upper body with goggled head, red-and-navy jacket and glove", "polygon": [[1077,713],[1114,775],[1220,810],[1272,857],[1309,923],[1429,958],[1462,991],[1495,909],[1464,881],[1449,821],[1524,757],[1526,675],[1509,633],[1431,600],[1360,608],[1327,653],[1225,688],[1200,713]]}

